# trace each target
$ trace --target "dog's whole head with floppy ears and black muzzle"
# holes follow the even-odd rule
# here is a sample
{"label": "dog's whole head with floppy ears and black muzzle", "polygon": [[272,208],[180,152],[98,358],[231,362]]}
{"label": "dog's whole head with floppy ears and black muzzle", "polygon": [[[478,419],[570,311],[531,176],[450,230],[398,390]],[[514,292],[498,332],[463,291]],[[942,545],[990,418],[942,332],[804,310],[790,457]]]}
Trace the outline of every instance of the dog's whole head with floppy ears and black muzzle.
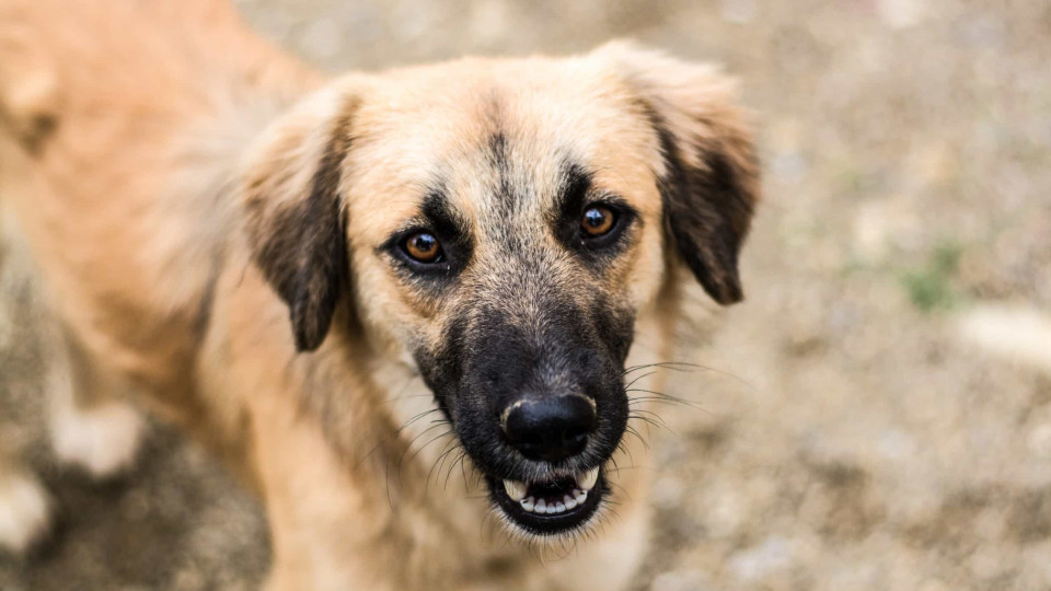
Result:
{"label": "dog's whole head with floppy ears and black muzzle", "polygon": [[301,351],[340,301],[413,363],[494,503],[586,524],[628,417],[635,318],[682,262],[720,303],[758,198],[727,82],[630,46],[351,77],[249,173],[255,260]]}

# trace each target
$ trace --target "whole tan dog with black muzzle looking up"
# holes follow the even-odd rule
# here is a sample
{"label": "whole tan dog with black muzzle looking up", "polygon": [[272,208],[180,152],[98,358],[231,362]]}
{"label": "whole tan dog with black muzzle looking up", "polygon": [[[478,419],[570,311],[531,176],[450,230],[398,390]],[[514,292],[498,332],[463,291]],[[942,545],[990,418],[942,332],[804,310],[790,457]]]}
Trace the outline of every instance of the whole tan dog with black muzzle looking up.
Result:
{"label": "whole tan dog with black muzzle looking up", "polygon": [[213,0],[0,3],[58,454],[181,426],[258,494],[269,589],[628,584],[628,384],[686,281],[742,299],[759,199],[734,81],[631,43],[328,80]]}

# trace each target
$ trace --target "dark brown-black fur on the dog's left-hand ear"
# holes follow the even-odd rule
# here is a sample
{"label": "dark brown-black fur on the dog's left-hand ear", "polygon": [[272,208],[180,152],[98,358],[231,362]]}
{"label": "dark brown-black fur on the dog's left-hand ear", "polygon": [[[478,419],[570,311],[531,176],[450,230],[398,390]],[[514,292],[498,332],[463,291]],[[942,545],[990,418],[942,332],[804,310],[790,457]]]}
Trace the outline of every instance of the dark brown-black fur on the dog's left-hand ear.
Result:
{"label": "dark brown-black fur on the dog's left-hand ear", "polygon": [[255,262],[288,304],[296,348],[312,351],[328,333],[349,282],[340,166],[350,149],[350,115],[336,120],[304,199],[280,207],[256,229]]}

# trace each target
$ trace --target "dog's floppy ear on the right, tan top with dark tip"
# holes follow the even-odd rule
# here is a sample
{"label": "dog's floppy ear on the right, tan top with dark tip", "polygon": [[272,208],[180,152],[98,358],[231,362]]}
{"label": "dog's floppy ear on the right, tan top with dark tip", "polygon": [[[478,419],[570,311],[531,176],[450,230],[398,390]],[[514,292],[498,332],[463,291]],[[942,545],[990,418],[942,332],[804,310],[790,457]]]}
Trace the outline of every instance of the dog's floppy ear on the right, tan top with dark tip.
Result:
{"label": "dog's floppy ear on the right, tan top with dark tip", "polygon": [[614,43],[597,50],[630,86],[660,150],[669,242],[720,304],[743,298],[738,254],[760,199],[759,164],[732,80],[711,66]]}

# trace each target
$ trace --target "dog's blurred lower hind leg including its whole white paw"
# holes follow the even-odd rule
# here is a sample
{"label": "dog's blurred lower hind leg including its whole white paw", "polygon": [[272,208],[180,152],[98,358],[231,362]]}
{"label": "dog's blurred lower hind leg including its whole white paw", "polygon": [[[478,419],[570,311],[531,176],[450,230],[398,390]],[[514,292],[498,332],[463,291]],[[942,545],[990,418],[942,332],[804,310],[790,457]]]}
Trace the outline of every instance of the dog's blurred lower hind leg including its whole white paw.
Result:
{"label": "dog's blurred lower hind leg including its whole white paw", "polygon": [[127,386],[93,363],[65,331],[54,331],[47,386],[51,444],[58,459],[104,478],[130,467],[143,421]]}

